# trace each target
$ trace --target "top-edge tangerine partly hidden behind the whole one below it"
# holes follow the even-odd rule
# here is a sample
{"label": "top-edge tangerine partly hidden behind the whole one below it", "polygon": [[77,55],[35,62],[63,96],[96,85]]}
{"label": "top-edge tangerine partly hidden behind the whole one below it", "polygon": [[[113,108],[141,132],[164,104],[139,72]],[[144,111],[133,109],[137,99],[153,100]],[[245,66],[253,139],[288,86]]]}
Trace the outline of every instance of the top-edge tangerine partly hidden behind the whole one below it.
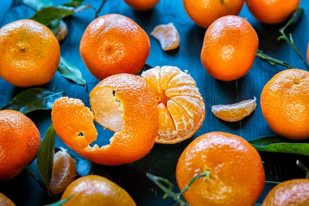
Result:
{"label": "top-edge tangerine partly hidden behind the whole one below it", "polygon": [[238,15],[244,0],[183,0],[188,16],[198,26],[208,28],[216,19]]}

